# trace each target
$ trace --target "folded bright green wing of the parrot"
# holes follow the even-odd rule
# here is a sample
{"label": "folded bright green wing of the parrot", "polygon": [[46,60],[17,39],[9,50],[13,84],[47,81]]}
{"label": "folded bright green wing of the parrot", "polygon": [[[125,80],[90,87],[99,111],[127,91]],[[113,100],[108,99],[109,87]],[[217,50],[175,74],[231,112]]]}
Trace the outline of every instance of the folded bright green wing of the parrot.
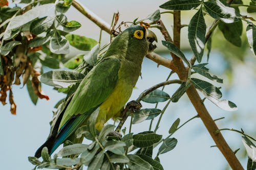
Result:
{"label": "folded bright green wing of the parrot", "polygon": [[110,56],[101,60],[79,84],[63,114],[59,129],[74,115],[96,109],[112,93],[118,80],[120,60]]}

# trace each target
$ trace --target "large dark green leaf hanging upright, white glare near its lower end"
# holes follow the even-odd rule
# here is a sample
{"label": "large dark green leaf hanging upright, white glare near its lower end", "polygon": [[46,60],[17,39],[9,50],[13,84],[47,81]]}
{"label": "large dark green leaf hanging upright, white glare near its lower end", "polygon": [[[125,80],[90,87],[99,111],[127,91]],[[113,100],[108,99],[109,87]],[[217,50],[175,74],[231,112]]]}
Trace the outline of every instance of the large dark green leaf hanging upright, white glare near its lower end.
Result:
{"label": "large dark green leaf hanging upright, white glare near its lower end", "polygon": [[188,41],[197,61],[200,63],[204,54],[206,25],[203,8],[192,17],[188,26]]}

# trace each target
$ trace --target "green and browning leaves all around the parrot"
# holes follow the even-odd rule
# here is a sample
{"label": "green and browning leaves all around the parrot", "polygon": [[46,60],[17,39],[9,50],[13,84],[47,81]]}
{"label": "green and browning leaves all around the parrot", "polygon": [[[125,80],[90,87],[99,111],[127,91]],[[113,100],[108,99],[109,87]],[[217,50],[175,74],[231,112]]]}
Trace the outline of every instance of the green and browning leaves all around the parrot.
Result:
{"label": "green and browning leaves all around the parrot", "polygon": [[[201,63],[205,46],[210,51],[210,36],[217,25],[225,39],[238,47],[242,45],[243,24],[247,25],[246,35],[249,46],[251,51],[256,54],[256,26],[252,22],[254,19],[242,15],[238,7],[244,6],[243,2],[237,2],[176,0],[160,5],[160,8],[166,9],[170,13],[173,13],[174,10],[196,11],[187,28],[188,42],[194,54],[193,58],[189,60],[175,43],[168,40],[162,41],[163,46],[169,52],[179,57],[187,65],[187,80],[182,81],[180,87],[172,95],[160,89],[152,89],[143,95],[138,102],[155,104],[156,107],[143,108],[132,113],[130,131],[125,134],[125,129],[123,129],[123,137],[110,135],[114,131],[114,125],[106,125],[98,132],[95,129],[97,115],[92,115],[88,119],[87,125],[80,127],[75,132],[76,138],[84,137],[90,140],[90,144],[67,145],[53,157],[49,155],[48,149],[44,148],[41,152],[42,161],[35,157],[29,157],[29,161],[35,165],[35,168],[82,169],[85,165],[88,166],[88,169],[163,169],[159,155],[175,149],[178,142],[171,136],[191,119],[198,116],[190,118],[182,125],[180,125],[180,118],[176,119],[170,126],[167,137],[157,134],[157,129],[169,103],[178,102],[190,86],[194,86],[206,99],[221,109],[237,110],[236,104],[228,100],[221,100],[220,88],[212,82],[223,83],[223,80],[210,74],[206,67],[207,63]],[[56,117],[66,107],[80,81],[101,59],[108,44],[100,46],[94,39],[71,33],[81,27],[78,21],[68,21],[65,15],[73,3],[72,0],[14,1],[14,3],[17,4],[17,7],[3,6],[0,8],[0,14],[5,13],[5,15],[0,15],[0,101],[3,105],[6,104],[9,91],[11,113],[16,114],[12,85],[20,85],[20,79],[22,79],[23,86],[27,84],[30,98],[36,104],[38,98],[49,99],[40,88],[40,83],[45,83],[53,86],[59,92],[67,93],[66,99],[61,100],[56,106],[57,111],[54,114]],[[19,3],[25,5],[19,7]],[[251,1],[250,5],[246,7],[248,13],[255,12],[256,4]],[[214,25],[208,30],[206,29],[205,15],[215,19]],[[116,16],[112,33],[121,29],[121,27],[115,29],[118,21],[118,15]],[[145,24],[145,21],[151,20],[151,26],[157,27],[160,17],[160,10],[157,10],[146,18],[139,21],[136,18],[131,23],[137,24],[143,21]],[[127,25],[127,23],[121,22],[120,26]],[[68,58],[66,54],[70,52],[70,45],[78,50],[90,52],[88,55]],[[198,62],[196,65],[194,65],[195,61]],[[42,72],[43,66],[56,69],[62,65],[71,70]],[[203,80],[194,78],[193,74],[203,76]],[[168,85],[166,82],[161,86]],[[163,109],[157,108],[159,102],[166,102]],[[159,118],[157,126],[154,131],[151,131],[155,118]],[[133,134],[131,132],[132,124],[138,124],[144,120],[151,120],[149,131]],[[242,134],[245,135],[244,132]],[[246,140],[250,141],[247,137]],[[157,153],[155,157],[153,157],[153,152]],[[251,158],[248,159],[247,169],[255,169],[255,162]]]}

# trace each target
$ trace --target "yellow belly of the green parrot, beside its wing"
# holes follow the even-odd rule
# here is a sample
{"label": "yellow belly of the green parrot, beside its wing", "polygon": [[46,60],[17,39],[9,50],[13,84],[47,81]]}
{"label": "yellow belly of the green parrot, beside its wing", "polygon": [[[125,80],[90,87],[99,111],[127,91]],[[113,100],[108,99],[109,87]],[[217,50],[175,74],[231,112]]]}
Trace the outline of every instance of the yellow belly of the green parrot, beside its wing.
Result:
{"label": "yellow belly of the green parrot, beside its wing", "polygon": [[106,121],[114,118],[123,109],[132,94],[132,90],[133,87],[127,86],[124,81],[118,81],[109,98],[99,107],[96,129],[101,130]]}

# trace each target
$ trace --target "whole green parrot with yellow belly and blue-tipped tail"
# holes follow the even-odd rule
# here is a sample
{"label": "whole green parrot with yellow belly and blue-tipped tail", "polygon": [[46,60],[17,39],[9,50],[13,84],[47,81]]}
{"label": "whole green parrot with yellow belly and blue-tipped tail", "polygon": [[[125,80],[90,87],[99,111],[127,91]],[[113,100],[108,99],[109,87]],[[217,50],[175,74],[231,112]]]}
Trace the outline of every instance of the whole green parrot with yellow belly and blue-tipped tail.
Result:
{"label": "whole green parrot with yellow belly and blue-tipped tail", "polygon": [[116,36],[102,59],[80,82],[35,157],[41,156],[44,147],[51,155],[94,111],[98,112],[95,128],[99,131],[110,118],[115,118],[123,110],[141,75],[144,56],[156,48],[152,44],[154,41],[157,41],[156,35],[139,25]]}

